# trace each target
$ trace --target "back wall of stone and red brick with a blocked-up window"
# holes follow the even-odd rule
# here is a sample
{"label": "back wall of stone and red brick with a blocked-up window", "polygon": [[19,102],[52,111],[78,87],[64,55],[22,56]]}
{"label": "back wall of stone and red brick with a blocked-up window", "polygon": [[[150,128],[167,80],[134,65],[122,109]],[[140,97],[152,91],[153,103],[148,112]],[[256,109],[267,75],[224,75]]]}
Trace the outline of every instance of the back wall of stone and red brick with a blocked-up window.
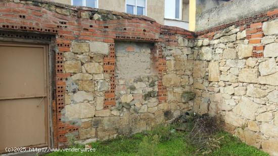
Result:
{"label": "back wall of stone and red brick with a blocked-up window", "polygon": [[184,62],[193,62],[193,32],[146,16],[39,0],[1,1],[0,15],[2,38],[56,45],[49,51],[56,71],[49,87],[56,95],[52,147],[141,132],[193,106],[192,68]]}

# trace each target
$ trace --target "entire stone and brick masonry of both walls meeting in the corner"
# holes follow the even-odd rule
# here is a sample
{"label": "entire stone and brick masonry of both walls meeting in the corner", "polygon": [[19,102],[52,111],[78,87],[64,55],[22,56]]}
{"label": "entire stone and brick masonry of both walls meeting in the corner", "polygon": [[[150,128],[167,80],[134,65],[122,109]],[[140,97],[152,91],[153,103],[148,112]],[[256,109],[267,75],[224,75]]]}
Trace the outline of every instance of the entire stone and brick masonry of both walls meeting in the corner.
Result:
{"label": "entire stone and brick masonry of both walls meeting in the corner", "polygon": [[[277,9],[196,36],[145,16],[38,0],[0,2],[0,14],[4,39],[53,36],[53,146],[149,130],[193,110],[278,154]],[[28,34],[7,33],[18,31]]]}

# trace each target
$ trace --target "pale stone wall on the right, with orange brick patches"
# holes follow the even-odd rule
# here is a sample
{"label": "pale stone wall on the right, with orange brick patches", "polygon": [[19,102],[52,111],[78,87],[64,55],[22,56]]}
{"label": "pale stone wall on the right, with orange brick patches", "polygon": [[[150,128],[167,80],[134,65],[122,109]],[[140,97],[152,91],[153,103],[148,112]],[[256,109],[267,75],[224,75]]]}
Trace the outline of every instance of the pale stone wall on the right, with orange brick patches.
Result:
{"label": "pale stone wall on the right, with orange brick patches", "polygon": [[277,28],[277,16],[266,16],[199,36],[194,47],[193,110],[270,155],[278,154]]}

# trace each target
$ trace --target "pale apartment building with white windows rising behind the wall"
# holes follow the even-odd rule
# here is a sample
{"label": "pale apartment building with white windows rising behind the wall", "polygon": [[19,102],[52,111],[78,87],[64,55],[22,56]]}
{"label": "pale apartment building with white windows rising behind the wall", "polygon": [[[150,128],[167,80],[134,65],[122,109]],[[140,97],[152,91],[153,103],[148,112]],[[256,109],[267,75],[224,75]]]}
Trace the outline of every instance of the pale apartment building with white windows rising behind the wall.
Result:
{"label": "pale apartment building with white windows rising behind the wall", "polygon": [[[190,29],[190,15],[195,25],[196,0],[52,0],[54,2],[144,15],[159,24]],[[192,11],[190,12],[190,3]]]}

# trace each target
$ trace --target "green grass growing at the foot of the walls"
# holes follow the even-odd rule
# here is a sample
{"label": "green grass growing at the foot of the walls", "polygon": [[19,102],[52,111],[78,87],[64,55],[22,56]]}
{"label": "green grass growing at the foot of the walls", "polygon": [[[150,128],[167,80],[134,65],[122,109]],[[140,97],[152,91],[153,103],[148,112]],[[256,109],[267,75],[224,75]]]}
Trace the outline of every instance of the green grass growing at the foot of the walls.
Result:
{"label": "green grass growing at the foot of the walls", "polygon": [[[223,136],[219,143],[220,148],[206,155],[268,155],[226,132],[218,132],[216,136]],[[59,151],[47,155],[202,155],[204,152],[195,152],[197,147],[188,142],[187,133],[171,132],[169,128],[162,126],[129,137],[119,136],[112,140],[93,142],[91,146],[96,148],[95,152]],[[74,147],[84,148],[83,145]]]}

